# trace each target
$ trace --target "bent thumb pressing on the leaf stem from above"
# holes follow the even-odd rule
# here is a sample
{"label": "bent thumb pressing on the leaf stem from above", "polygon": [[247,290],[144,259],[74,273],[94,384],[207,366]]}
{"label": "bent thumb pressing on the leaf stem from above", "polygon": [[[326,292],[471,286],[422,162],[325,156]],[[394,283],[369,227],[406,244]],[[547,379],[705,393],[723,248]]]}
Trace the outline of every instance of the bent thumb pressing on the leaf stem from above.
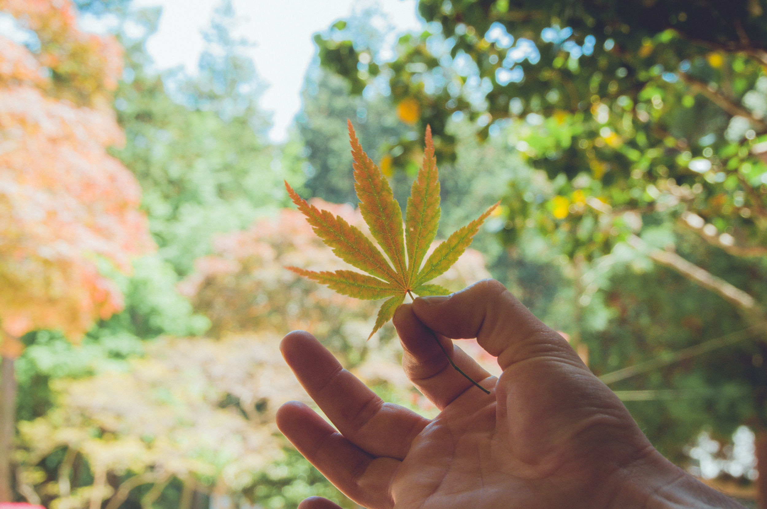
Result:
{"label": "bent thumb pressing on the leaf stem from above", "polygon": [[[565,338],[547,327],[511,292],[493,279],[484,279],[439,297],[418,297],[413,313],[426,327],[443,336],[475,338],[501,369],[536,356],[555,355],[583,366]],[[584,366],[585,368],[585,366]]]}

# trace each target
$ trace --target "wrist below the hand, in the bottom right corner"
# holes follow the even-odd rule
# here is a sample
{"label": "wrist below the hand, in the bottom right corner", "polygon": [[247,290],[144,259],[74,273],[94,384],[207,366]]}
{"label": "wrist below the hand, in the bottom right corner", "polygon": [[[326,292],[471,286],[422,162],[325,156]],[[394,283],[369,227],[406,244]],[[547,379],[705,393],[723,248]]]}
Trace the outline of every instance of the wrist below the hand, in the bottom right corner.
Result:
{"label": "wrist below the hand, in the bottom right corner", "polygon": [[673,465],[654,448],[641,460],[616,472],[608,509],[744,509]]}

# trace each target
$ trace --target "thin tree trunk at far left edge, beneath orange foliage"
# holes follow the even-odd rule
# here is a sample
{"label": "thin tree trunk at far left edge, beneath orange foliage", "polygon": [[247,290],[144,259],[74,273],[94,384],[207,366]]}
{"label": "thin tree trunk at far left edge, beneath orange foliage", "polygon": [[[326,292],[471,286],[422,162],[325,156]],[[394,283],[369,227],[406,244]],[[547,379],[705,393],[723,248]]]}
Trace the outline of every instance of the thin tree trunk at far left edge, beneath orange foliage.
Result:
{"label": "thin tree trunk at far left edge, beneath orange foliage", "polygon": [[11,454],[16,422],[16,376],[13,357],[0,364],[0,502],[13,501]]}

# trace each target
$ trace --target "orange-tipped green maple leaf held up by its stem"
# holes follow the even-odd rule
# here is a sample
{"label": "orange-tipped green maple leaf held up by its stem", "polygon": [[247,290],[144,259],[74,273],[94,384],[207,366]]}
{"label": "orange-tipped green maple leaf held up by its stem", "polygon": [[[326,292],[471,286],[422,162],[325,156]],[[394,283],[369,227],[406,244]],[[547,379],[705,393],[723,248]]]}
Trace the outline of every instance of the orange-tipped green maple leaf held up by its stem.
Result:
{"label": "orange-tipped green maple leaf held up by its stem", "polygon": [[[338,258],[367,274],[347,270],[318,272],[298,267],[288,269],[327,284],[339,294],[367,300],[388,297],[378,311],[374,329],[367,338],[370,339],[393,317],[406,294],[413,297],[413,294],[423,296],[450,293],[445,287],[428,284],[428,281],[456,263],[471,244],[479,226],[498,203],[491,205],[479,218],[453,232],[426,258],[426,251],[436,236],[440,213],[439,179],[431,128],[426,126],[423,166],[418,170],[410,189],[403,227],[402,209],[394,199],[389,182],[364,153],[351,121],[348,125],[354,159],[354,190],[360,200],[362,217],[380,250],[359,228],[350,225],[341,216],[334,216],[326,210],[309,205],[285,182],[288,194],[298,210],[306,216],[314,233],[333,249]],[[426,261],[423,261],[424,258]]]}

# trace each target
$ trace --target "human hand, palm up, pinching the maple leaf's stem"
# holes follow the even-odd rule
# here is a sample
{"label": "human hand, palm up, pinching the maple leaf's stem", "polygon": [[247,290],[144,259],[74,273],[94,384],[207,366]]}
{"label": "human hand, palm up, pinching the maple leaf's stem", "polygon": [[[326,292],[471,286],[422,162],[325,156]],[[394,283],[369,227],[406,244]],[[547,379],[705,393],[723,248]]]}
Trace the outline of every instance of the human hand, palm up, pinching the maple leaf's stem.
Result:
{"label": "human hand, palm up, pinching the maple leaf's stem", "polygon": [[[304,331],[281,343],[317,402],[288,402],[281,432],[349,498],[370,509],[740,507],[687,475],[644,437],[617,396],[502,284],[418,298],[394,316],[403,368],[437,408],[425,419],[383,402]],[[428,327],[428,328],[427,328]],[[490,389],[486,395],[453,361]],[[496,379],[449,338],[477,338]],[[338,509],[308,498],[299,509]]]}

